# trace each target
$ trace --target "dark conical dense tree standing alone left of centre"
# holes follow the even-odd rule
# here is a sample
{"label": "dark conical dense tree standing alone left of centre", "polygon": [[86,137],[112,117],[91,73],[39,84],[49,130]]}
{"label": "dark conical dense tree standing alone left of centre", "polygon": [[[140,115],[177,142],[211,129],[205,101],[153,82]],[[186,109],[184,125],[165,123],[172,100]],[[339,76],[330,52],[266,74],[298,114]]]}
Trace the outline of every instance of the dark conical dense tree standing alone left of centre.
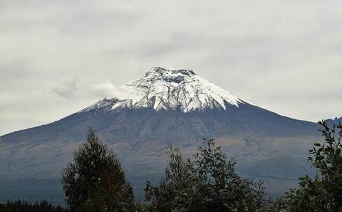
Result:
{"label": "dark conical dense tree standing alone left of centre", "polygon": [[131,185],[119,158],[89,129],[87,141],[64,169],[62,185],[70,211],[133,211]]}

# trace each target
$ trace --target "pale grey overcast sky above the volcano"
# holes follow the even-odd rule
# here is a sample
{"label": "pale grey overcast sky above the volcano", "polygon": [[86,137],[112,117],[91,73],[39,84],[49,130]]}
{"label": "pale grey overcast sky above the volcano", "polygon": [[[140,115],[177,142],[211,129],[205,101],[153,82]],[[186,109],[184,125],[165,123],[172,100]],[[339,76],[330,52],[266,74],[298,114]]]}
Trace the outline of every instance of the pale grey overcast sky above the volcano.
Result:
{"label": "pale grey overcast sky above the volcano", "polygon": [[61,119],[153,66],[250,103],[342,116],[342,1],[0,0],[0,135]]}

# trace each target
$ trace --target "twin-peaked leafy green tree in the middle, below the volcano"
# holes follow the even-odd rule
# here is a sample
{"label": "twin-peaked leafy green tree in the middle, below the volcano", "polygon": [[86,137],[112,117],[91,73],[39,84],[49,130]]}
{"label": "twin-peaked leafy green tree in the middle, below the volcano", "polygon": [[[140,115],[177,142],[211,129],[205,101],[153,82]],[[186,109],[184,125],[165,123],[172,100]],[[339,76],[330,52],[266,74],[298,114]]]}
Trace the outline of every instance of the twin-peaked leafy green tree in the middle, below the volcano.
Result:
{"label": "twin-peaked leafy green tree in the middle, below the volcano", "polygon": [[150,211],[256,211],[262,207],[262,183],[241,179],[235,162],[228,161],[214,139],[203,139],[193,160],[184,160],[177,148],[168,148],[165,177],[145,188]]}

